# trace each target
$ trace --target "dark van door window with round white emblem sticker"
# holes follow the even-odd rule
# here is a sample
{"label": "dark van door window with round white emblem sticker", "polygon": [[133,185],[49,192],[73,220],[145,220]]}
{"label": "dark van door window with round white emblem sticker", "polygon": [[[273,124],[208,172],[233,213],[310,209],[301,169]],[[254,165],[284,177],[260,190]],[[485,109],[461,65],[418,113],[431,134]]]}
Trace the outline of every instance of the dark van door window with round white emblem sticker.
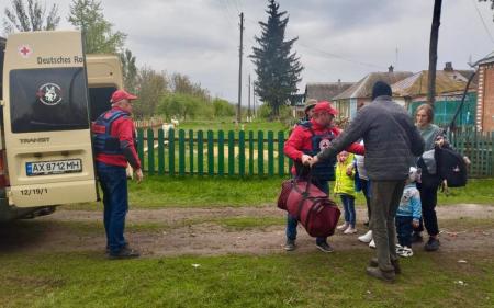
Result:
{"label": "dark van door window with round white emblem sticker", "polygon": [[88,99],[82,68],[10,71],[12,133],[88,129]]}

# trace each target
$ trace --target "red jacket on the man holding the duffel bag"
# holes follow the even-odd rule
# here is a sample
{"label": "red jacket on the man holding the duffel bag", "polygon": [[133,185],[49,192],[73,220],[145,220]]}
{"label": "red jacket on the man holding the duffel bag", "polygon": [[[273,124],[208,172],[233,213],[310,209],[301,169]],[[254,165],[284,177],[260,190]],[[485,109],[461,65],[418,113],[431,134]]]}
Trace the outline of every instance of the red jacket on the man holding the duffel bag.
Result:
{"label": "red jacket on the man holding the duffel bag", "polygon": [[[311,119],[312,123],[312,129],[315,134],[324,134],[327,132],[332,132],[335,137],[337,137],[341,130],[335,126],[332,126],[329,128],[323,127],[314,119]],[[293,160],[302,160],[302,155],[304,151],[312,151],[312,133],[311,130],[303,126],[297,125],[295,129],[293,129],[292,134],[290,135],[290,138],[284,144],[284,153],[293,159]],[[364,148],[362,145],[359,144],[351,144],[346,151],[356,153],[356,155],[363,155]]]}

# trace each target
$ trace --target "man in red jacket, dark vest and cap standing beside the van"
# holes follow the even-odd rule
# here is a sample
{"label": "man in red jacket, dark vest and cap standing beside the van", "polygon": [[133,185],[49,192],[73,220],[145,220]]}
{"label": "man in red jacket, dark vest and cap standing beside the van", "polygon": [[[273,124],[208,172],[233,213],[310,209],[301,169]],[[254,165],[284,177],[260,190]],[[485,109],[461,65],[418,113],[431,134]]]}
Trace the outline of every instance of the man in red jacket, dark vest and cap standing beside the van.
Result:
{"label": "man in red jacket, dark vest and cap standing beside the van", "polygon": [[137,258],[124,238],[125,216],[128,210],[127,162],[135,170],[138,183],[143,180],[141,161],[135,147],[132,122],[132,100],[137,96],[125,90],[112,94],[112,109],[92,124],[98,178],[103,190],[104,229],[110,259]]}

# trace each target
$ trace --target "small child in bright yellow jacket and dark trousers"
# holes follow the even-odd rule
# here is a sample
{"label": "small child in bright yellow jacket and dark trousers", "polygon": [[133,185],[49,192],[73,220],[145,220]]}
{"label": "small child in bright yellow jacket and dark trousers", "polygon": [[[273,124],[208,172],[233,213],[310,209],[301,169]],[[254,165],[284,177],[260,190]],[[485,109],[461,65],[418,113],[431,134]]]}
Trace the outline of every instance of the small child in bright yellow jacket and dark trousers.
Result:
{"label": "small child in bright yellow jacket and dark trousers", "polygon": [[343,230],[345,235],[352,235],[357,232],[355,228],[355,169],[349,168],[353,164],[353,155],[343,151],[337,156],[337,159],[334,192],[341,198],[345,209],[345,224],[337,229]]}

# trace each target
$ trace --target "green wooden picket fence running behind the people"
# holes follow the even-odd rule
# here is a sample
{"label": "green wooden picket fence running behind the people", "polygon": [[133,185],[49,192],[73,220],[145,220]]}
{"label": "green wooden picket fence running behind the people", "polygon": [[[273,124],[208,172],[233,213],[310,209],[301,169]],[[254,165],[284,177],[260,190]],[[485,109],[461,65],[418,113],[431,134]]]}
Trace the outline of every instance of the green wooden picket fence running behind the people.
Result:
{"label": "green wooden picket fence running behind the people", "polygon": [[[148,174],[287,176],[285,132],[173,130],[138,128],[137,151]],[[451,145],[469,157],[470,178],[494,176],[494,133],[450,133]]]}

